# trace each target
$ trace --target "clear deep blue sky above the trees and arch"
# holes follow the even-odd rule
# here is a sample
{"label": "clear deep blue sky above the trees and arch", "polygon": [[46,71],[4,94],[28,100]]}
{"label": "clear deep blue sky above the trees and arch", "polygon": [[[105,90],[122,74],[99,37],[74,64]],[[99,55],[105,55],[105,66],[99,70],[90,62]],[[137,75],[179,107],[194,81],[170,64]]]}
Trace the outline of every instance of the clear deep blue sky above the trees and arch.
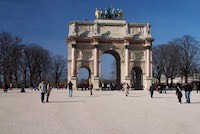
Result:
{"label": "clear deep blue sky above the trees and arch", "polygon": [[153,45],[183,35],[200,41],[199,0],[0,0],[0,33],[67,58],[68,23],[94,21],[95,9],[109,6],[122,9],[127,22],[150,23]]}

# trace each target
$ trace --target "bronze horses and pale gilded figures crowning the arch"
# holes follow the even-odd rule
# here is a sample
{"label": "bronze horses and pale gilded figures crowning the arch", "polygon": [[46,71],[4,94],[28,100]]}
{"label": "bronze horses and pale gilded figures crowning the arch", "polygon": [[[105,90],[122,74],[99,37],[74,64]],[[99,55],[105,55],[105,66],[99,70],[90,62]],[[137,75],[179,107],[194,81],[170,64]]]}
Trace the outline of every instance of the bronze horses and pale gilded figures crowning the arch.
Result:
{"label": "bronze horses and pale gilded figures crowning the arch", "polygon": [[122,9],[117,9],[115,10],[114,8],[106,8],[105,10],[103,9],[98,9],[96,8],[95,11],[95,18],[96,19],[118,19],[122,20],[123,19],[123,12]]}

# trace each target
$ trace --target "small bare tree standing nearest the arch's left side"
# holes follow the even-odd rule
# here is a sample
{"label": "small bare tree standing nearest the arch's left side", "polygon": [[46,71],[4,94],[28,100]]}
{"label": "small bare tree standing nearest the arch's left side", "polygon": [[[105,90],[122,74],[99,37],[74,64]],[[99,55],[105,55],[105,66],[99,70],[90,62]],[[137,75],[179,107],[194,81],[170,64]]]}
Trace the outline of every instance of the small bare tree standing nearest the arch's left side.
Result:
{"label": "small bare tree standing nearest the arch's left side", "polygon": [[57,86],[66,71],[66,59],[62,55],[55,55],[51,59],[51,76]]}

